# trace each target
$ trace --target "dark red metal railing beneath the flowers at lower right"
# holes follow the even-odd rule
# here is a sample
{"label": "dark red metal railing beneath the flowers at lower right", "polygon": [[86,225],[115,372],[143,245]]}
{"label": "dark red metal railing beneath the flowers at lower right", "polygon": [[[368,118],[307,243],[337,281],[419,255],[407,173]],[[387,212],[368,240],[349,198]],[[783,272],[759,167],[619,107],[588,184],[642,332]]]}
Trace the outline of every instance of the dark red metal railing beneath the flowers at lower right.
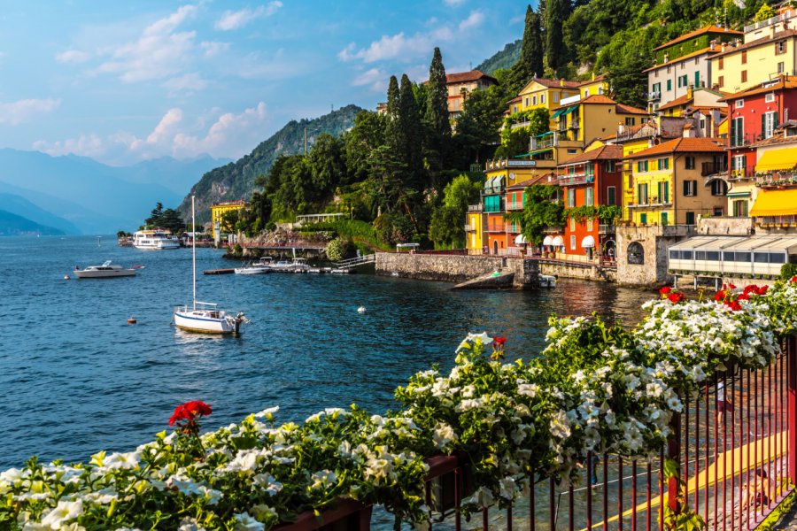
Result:
{"label": "dark red metal railing beneath the flowers at lower right", "polygon": [[[530,478],[534,487],[526,496],[504,510],[484,507],[481,521],[467,528],[649,531],[665,528],[667,508],[676,511],[685,504],[709,530],[754,529],[797,483],[795,420],[797,341],[791,336],[770,366],[758,371],[729,367],[687,397],[684,412],[670,422],[674,435],[658,455],[629,459],[591,453],[583,459],[580,485]],[[668,462],[677,466],[680,486],[676,477],[667,479]],[[468,457],[437,456],[427,463],[425,528],[466,528],[456,508],[476,488]],[[370,507],[349,509],[337,520],[316,519],[316,527],[284,529],[326,529],[335,522],[341,528],[370,529]]]}

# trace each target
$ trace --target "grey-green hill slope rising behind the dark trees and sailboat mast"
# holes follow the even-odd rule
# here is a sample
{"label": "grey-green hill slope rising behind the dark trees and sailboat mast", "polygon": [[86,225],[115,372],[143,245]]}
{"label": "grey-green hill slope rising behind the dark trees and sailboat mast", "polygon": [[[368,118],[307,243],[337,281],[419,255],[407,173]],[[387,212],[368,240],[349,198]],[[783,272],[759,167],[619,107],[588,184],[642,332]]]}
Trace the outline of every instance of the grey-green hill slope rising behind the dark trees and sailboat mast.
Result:
{"label": "grey-green hill slope rising behind the dark trees and sailboat mast", "polygon": [[267,174],[280,155],[295,155],[305,150],[321,135],[341,135],[354,125],[354,117],[362,111],[357,105],[347,105],[316,119],[291,120],[274,135],[251,151],[249,155],[215,168],[194,185],[178,209],[185,219],[190,218],[191,195],[197,196],[197,222],[210,219],[210,206],[222,201],[249,200],[258,175]]}

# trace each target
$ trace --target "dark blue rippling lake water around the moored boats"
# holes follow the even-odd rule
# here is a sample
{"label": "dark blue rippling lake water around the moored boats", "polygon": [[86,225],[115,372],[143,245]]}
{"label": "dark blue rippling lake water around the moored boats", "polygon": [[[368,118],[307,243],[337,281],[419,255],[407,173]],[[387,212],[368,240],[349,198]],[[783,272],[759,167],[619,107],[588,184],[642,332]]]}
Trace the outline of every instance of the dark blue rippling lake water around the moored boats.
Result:
{"label": "dark blue rippling lake water around the moored boats", "polygon": [[[0,470],[32,455],[82,461],[131,450],[187,400],[213,406],[206,428],[273,405],[282,421],[352,403],[384,412],[411,374],[450,367],[468,332],[504,335],[509,358],[530,358],[552,313],[633,323],[653,296],[567,280],[533,292],[461,292],[374,274],[202,275],[238,264],[221,254],[197,249],[197,299],[244,311],[253,322],[240,337],[171,326],[174,306],[190,303],[190,249],[121,248],[112,236],[0,238]],[[64,280],[75,265],[108,259],[144,268],[132,278]]]}

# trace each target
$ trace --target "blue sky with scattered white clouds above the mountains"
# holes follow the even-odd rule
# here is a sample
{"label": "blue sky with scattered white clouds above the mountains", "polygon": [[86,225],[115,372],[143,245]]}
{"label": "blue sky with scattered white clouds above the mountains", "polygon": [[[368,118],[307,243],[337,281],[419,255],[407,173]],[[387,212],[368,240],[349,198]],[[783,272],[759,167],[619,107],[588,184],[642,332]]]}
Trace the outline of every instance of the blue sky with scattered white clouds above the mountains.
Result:
{"label": "blue sky with scattered white clouds above the mountains", "polygon": [[[536,4],[536,3],[535,3]],[[465,72],[525,2],[5,0],[0,148],[110,165],[237,159],[290,119],[375,109],[391,75]]]}

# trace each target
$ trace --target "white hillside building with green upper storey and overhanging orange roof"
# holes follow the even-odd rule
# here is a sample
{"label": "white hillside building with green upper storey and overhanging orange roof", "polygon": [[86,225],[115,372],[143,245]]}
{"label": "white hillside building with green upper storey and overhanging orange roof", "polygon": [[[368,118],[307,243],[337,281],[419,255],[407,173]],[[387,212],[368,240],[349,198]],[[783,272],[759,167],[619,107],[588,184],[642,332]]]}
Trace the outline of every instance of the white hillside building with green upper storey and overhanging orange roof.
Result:
{"label": "white hillside building with green upper storey and overhanging orange roof", "polygon": [[741,37],[727,27],[707,26],[654,48],[655,64],[648,68],[648,108],[656,111],[686,95],[692,87],[710,87],[710,58],[721,51],[723,42]]}

